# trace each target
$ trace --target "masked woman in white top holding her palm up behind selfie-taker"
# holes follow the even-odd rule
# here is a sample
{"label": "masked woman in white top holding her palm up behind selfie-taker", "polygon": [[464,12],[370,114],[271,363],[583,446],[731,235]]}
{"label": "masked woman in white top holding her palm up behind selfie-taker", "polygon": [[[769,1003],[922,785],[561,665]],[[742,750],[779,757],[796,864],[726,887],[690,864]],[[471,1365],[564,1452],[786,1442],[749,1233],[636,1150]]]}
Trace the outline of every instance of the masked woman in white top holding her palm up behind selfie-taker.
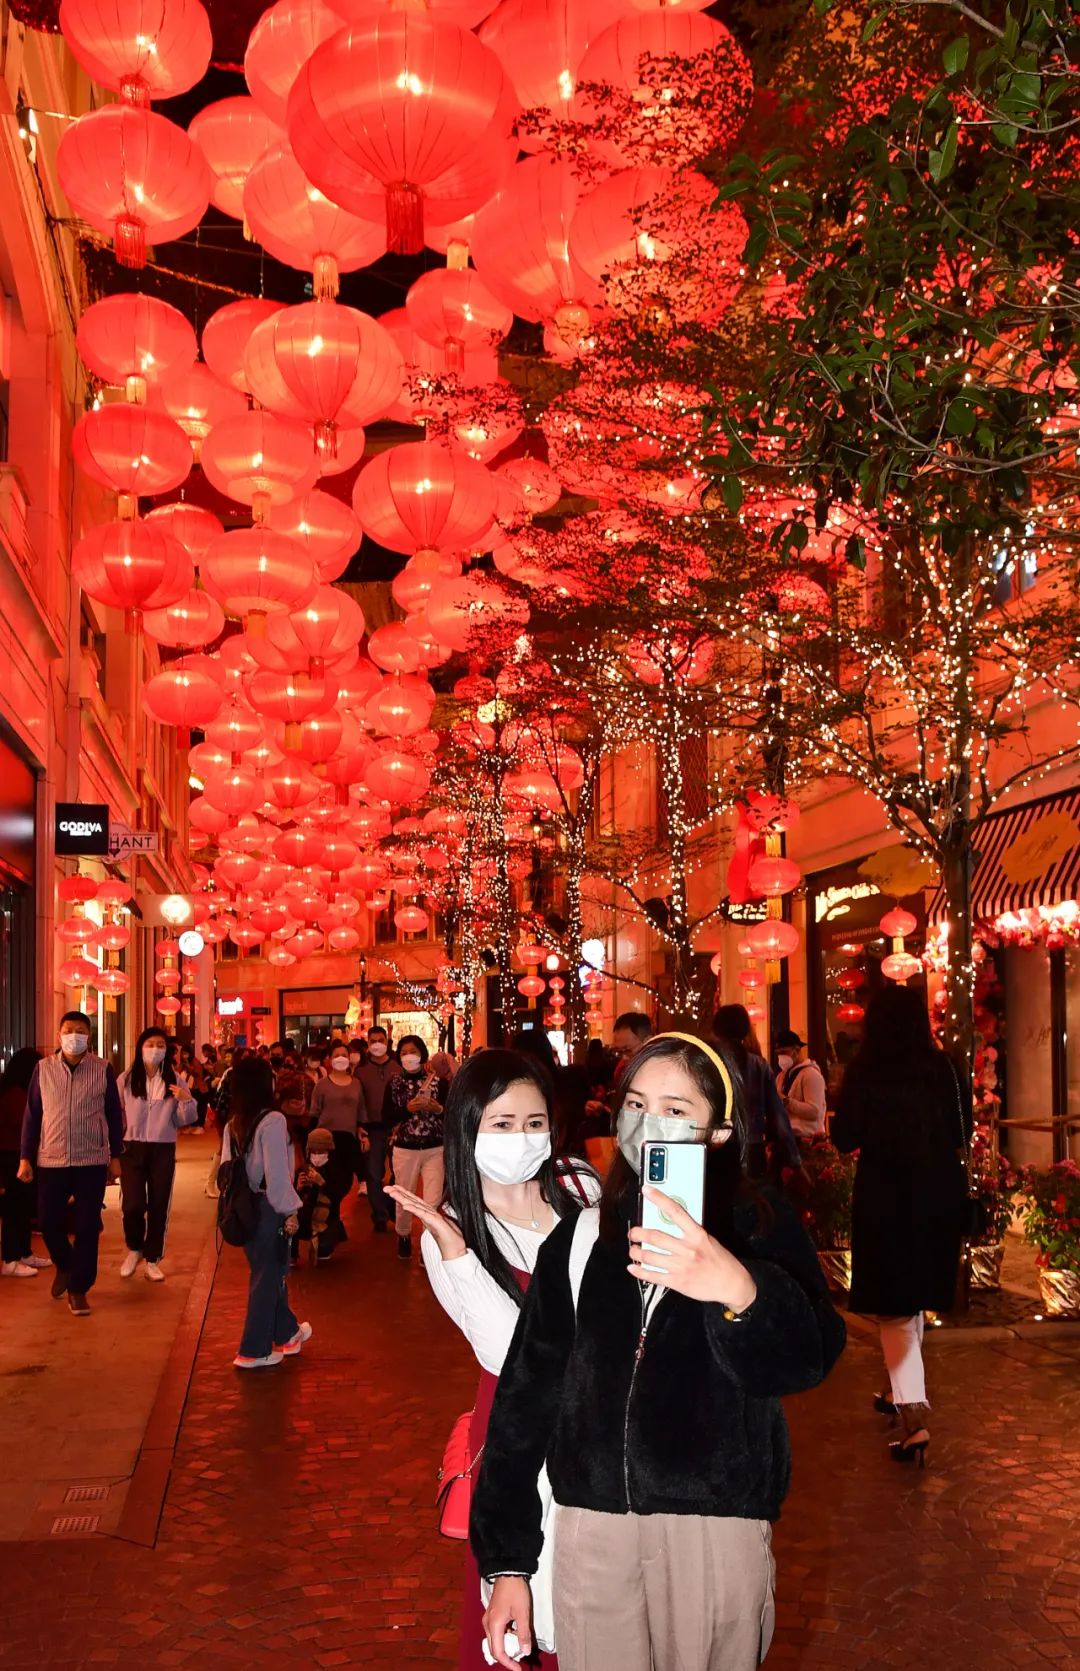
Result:
{"label": "masked woman in white top holding her palm up behind selfie-taker", "polygon": [[[386,1193],[425,1227],[420,1252],[443,1310],[481,1369],[470,1427],[478,1457],[498,1374],[543,1242],[600,1193],[587,1168],[552,1153],[552,1088],[538,1063],[508,1049],[471,1056],[456,1073],[445,1111],[446,1186],[435,1208],[398,1186]],[[483,1668],[480,1572],[468,1557],[460,1671]],[[550,1654],[545,1668],[555,1666]]]}

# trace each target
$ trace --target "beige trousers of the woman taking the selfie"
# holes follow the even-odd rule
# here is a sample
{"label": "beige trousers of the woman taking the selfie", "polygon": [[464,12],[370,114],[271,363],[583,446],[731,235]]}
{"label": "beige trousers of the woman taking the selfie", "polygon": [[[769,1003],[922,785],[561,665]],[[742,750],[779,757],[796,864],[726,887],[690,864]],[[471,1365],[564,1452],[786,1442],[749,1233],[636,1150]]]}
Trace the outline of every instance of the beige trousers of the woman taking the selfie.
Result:
{"label": "beige trousers of the woman taking the selfie", "polygon": [[767,1521],[560,1507],[560,1671],[754,1671],[774,1571]]}

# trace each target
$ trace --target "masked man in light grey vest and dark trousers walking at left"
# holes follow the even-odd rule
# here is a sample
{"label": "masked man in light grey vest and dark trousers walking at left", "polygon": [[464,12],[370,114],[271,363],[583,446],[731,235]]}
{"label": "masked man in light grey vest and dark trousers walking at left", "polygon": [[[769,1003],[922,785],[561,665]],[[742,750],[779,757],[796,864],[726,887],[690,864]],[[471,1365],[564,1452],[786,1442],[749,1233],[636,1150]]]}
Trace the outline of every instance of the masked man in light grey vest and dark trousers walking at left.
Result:
{"label": "masked man in light grey vest and dark trousers walking at left", "polygon": [[[37,1171],[37,1216],[57,1267],[52,1297],[67,1293],[74,1317],[89,1317],[97,1282],[105,1185],[120,1176],[124,1110],[112,1068],[90,1051],[90,1018],[69,1009],[60,1019],[59,1051],[38,1061],[27,1088],[18,1178]],[[75,1203],[75,1238],[67,1233],[67,1203]]]}

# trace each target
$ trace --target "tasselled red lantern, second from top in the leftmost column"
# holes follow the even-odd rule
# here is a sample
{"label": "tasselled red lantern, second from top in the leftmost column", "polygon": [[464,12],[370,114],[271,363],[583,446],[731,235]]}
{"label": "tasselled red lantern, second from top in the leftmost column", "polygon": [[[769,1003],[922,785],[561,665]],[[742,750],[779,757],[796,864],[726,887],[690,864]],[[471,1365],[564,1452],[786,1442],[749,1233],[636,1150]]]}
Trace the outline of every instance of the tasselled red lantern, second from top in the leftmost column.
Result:
{"label": "tasselled red lantern, second from top in the leftmost column", "polygon": [[57,175],[72,209],[112,239],[124,267],[145,266],[147,241],[194,231],[211,201],[211,177],[187,134],[130,105],[90,110],[64,134]]}

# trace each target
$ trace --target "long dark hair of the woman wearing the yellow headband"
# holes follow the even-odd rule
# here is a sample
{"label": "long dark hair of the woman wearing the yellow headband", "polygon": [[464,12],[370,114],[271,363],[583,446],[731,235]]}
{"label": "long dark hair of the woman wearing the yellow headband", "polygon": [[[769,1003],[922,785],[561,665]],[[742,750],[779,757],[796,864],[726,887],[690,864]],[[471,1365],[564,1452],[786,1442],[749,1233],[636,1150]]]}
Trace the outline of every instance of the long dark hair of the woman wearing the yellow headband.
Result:
{"label": "long dark hair of the woman wearing the yellow headband", "polygon": [[[716,1049],[716,1046],[712,1048]],[[697,1044],[694,1039],[672,1038],[665,1033],[659,1033],[655,1038],[649,1039],[649,1043],[642,1044],[642,1048],[630,1058],[619,1081],[615,1103],[612,1106],[612,1131],[615,1131],[622,1105],[625,1103],[640,1069],[650,1061],[675,1061],[690,1076],[709,1105],[709,1130],[716,1131],[719,1126],[726,1125],[734,1126],[734,1131],[726,1143],[711,1146],[706,1166],[706,1223],[714,1233],[729,1225],[736,1198],[744,1190],[747,1150],[742,1081],[727,1049],[721,1048],[719,1054],[727,1066],[734,1093],[734,1106],[727,1096],[727,1088],[721,1078],[721,1071],[709,1058],[706,1048]],[[640,1186],[642,1181],[634,1171],[634,1166],[630,1166],[630,1161],[617,1151],[609,1175],[604,1180],[604,1193],[600,1196],[600,1240],[607,1242],[610,1247],[625,1242],[627,1215],[634,1215]]]}

